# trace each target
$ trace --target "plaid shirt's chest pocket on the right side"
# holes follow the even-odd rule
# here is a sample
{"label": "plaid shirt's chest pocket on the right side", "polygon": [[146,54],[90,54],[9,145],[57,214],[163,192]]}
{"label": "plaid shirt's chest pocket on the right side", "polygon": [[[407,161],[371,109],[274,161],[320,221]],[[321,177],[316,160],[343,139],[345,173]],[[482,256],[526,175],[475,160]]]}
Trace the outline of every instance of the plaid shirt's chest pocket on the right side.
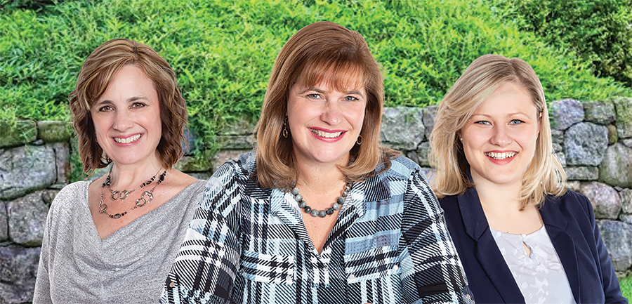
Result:
{"label": "plaid shirt's chest pocket on the right side", "polygon": [[345,272],[349,284],[393,275],[399,270],[397,246],[383,246],[345,255]]}

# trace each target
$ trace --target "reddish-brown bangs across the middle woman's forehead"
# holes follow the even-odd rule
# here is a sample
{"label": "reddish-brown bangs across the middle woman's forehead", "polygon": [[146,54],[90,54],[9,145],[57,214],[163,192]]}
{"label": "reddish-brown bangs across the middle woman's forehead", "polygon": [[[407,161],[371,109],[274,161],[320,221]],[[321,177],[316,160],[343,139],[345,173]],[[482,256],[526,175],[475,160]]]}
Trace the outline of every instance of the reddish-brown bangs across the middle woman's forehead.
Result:
{"label": "reddish-brown bangs across the middle woman's forehead", "polygon": [[327,81],[327,88],[340,92],[356,91],[367,86],[364,69],[359,63],[350,60],[312,60],[305,65],[296,81],[298,85],[308,88]]}

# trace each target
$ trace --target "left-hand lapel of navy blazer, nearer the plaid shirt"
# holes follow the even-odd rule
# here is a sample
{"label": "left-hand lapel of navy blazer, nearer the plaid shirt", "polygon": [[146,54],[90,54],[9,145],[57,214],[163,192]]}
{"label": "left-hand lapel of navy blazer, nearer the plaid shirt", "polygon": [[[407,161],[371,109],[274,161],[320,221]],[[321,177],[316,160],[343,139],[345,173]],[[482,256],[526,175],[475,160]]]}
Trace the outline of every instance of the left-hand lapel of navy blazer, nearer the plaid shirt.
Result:
{"label": "left-hand lapel of navy blazer, nearer the plaid shirt", "polygon": [[[457,197],[466,234],[475,242],[475,256],[505,303],[525,303],[502,253],[494,241],[482,210],[478,192],[469,188]],[[475,278],[472,278],[475,279]]]}

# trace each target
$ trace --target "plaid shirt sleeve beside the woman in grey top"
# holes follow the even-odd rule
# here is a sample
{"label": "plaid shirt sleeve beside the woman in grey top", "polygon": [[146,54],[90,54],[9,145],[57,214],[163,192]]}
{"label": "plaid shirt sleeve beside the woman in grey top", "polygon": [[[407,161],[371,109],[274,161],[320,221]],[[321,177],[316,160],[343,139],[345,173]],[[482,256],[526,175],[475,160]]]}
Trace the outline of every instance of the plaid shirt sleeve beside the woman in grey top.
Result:
{"label": "plaid shirt sleeve beside the woman in grey top", "polygon": [[239,270],[239,183],[230,163],[208,180],[160,303],[228,303]]}

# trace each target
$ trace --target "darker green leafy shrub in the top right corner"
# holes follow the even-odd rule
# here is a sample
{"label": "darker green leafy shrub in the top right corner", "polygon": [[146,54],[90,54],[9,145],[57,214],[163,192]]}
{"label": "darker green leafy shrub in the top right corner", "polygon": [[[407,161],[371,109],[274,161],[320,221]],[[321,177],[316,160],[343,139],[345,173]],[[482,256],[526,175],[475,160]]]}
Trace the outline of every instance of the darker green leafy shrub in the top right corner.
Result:
{"label": "darker green leafy shrub in the top right corner", "polygon": [[522,29],[592,62],[595,75],[632,86],[632,0],[508,0]]}

